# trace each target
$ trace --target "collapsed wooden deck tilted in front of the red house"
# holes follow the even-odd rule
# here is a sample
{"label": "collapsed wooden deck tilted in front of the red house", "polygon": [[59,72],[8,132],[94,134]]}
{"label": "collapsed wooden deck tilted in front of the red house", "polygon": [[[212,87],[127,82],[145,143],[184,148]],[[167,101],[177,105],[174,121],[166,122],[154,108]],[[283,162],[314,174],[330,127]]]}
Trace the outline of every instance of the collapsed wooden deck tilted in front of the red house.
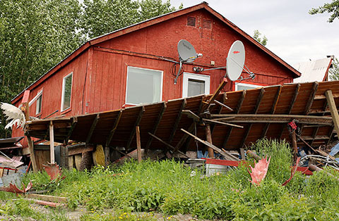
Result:
{"label": "collapsed wooden deck tilted in front of the red house", "polygon": [[[338,81],[284,84],[218,94],[210,106],[207,103],[212,95],[201,95],[102,113],[33,120],[27,123],[25,135],[49,140],[52,126],[54,141],[60,143],[74,140],[124,146],[126,150],[132,150],[136,149],[135,129],[139,126],[144,149],[165,147],[150,135],[155,134],[184,152],[196,151],[197,146],[194,139],[181,129],[205,139],[203,124],[210,124],[213,145],[225,150],[239,150],[262,137],[290,140],[287,122],[297,120],[301,137],[311,146],[320,146],[328,144],[335,134],[325,96],[328,90],[331,90],[338,107]],[[298,141],[298,146],[305,144]]]}

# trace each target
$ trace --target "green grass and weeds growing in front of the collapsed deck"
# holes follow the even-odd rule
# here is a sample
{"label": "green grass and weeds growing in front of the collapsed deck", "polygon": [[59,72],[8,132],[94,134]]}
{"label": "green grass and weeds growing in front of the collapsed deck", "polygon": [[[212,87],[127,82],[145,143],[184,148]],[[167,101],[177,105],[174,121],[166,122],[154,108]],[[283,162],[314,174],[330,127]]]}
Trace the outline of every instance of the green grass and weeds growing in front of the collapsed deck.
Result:
{"label": "green grass and weeds growing in front of the collapsed deck", "polygon": [[[244,165],[226,175],[201,179],[201,172],[196,171],[192,177],[191,169],[174,160],[131,161],[119,168],[95,168],[90,172],[70,170],[65,172],[66,179],[52,184],[44,172],[30,173],[25,183],[32,179],[37,189],[68,197],[70,208],[85,206],[91,213],[83,215],[82,220],[121,220],[122,213],[129,213],[131,220],[153,220],[151,215],[138,217],[131,213],[150,211],[223,220],[339,219],[337,172],[328,169],[334,177],[315,172],[309,178],[297,172],[282,187],[290,177],[290,146],[285,141],[262,139],[252,148],[261,156],[271,156],[268,174],[258,187],[250,184]],[[107,208],[121,214],[103,213]]]}

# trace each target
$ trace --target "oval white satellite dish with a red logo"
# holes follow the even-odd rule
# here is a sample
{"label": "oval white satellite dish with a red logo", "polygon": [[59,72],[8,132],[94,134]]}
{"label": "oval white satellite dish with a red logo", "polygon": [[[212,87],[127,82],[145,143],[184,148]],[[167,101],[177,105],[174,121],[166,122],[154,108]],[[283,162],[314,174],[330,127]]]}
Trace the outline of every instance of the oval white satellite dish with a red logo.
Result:
{"label": "oval white satellite dish with a red logo", "polygon": [[226,62],[226,75],[230,80],[238,80],[242,75],[242,70],[245,64],[245,48],[240,41],[233,42],[228,51]]}

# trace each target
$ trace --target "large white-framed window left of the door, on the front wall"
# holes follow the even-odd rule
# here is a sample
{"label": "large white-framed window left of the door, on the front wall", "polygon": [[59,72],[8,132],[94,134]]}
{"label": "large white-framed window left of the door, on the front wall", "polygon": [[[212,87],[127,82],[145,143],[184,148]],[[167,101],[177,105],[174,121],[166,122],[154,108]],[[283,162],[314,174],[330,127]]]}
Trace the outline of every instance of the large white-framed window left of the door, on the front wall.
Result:
{"label": "large white-framed window left of the door, on the front wall", "polygon": [[155,103],[161,99],[161,70],[127,67],[126,104]]}

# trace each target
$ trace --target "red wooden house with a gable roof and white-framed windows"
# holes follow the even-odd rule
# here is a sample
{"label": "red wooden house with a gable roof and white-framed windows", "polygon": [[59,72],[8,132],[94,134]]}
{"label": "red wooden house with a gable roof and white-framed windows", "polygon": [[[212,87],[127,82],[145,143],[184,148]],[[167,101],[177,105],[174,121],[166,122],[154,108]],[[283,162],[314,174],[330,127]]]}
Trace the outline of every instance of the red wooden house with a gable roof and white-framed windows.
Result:
{"label": "red wooden house with a gable roof and white-framed windows", "polygon": [[[186,39],[202,58],[184,65],[177,84],[177,43]],[[82,115],[195,94],[212,94],[225,69],[196,73],[195,66],[225,66],[236,40],[246,50],[245,65],[254,80],[227,82],[226,91],[293,82],[300,73],[205,2],[91,39],[26,90],[30,115]],[[242,75],[247,77],[246,72]],[[23,92],[12,103],[19,106]],[[13,130],[13,137],[22,135]]]}

